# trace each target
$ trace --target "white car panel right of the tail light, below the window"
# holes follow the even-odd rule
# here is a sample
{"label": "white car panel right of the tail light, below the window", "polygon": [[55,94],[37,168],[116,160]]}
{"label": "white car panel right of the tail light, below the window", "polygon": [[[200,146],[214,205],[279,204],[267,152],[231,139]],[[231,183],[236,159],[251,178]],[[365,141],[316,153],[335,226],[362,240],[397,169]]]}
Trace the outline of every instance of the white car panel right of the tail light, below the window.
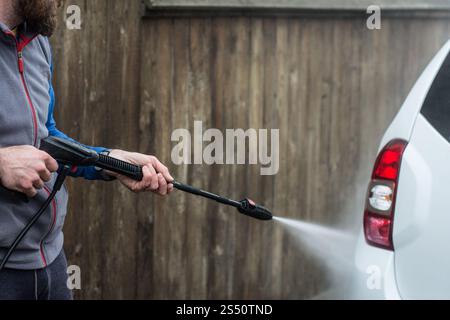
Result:
{"label": "white car panel right of the tail light, below the window", "polygon": [[394,220],[405,299],[450,299],[450,143],[419,115],[405,152]]}

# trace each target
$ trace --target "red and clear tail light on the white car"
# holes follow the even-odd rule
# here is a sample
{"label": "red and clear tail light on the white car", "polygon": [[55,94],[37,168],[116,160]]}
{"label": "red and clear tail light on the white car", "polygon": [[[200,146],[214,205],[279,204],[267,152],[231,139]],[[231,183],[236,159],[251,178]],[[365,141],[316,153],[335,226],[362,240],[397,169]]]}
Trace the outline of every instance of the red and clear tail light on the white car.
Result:
{"label": "red and clear tail light on the white car", "polygon": [[364,234],[368,244],[394,250],[392,228],[398,177],[407,142],[393,140],[378,155],[367,192]]}

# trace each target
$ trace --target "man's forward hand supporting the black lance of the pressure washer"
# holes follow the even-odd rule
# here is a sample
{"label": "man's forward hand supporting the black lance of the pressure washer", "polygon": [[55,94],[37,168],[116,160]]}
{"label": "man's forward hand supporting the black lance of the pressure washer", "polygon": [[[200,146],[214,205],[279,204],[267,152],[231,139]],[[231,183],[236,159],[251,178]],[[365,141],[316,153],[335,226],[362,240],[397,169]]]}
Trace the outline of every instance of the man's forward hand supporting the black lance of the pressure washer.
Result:
{"label": "man's forward hand supporting the black lance of the pressure washer", "polygon": [[143,167],[144,178],[142,181],[134,181],[128,177],[108,172],[109,175],[116,177],[133,192],[139,193],[152,191],[156,194],[165,196],[173,191],[173,185],[170,183],[174,179],[169,173],[169,169],[164,166],[157,158],[141,153],[132,153],[123,150],[112,150],[111,157],[130,162]]}

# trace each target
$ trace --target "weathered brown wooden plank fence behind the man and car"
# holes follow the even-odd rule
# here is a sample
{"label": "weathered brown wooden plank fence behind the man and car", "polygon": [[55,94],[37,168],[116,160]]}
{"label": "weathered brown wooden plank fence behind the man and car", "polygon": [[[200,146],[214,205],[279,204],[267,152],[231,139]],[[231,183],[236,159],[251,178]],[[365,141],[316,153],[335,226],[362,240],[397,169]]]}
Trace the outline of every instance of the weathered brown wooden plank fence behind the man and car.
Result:
{"label": "weathered brown wooden plank fence behind the man and car", "polygon": [[[68,5],[63,1],[63,5]],[[278,215],[359,226],[378,142],[450,34],[448,19],[142,19],[140,1],[73,0],[79,31],[52,38],[60,129],[157,155],[182,181]],[[64,16],[61,12],[60,16]],[[280,171],[175,166],[174,129],[280,129]],[[330,283],[273,223],[176,192],[136,196],[71,180],[65,235],[77,298],[309,298]]]}

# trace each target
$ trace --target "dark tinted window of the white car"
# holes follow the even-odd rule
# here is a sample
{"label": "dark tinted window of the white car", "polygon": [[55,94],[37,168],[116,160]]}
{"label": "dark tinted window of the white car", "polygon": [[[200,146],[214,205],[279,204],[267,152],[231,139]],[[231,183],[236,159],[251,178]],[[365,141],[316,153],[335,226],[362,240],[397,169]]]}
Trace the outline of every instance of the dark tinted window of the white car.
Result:
{"label": "dark tinted window of the white car", "polygon": [[422,114],[450,142],[450,54],[428,92]]}

